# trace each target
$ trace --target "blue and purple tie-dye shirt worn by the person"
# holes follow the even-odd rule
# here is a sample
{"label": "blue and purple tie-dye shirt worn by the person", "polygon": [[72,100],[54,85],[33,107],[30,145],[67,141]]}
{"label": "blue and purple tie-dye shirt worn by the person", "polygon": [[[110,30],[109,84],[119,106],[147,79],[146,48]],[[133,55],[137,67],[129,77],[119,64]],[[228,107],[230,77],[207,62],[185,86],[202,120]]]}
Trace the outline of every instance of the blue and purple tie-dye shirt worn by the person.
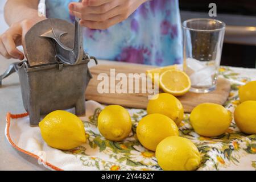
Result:
{"label": "blue and purple tie-dye shirt worn by the person", "polygon": [[[48,0],[47,17],[73,21],[71,0]],[[179,64],[182,37],[178,0],[143,3],[128,19],[107,30],[84,28],[84,49],[98,59],[149,65]]]}

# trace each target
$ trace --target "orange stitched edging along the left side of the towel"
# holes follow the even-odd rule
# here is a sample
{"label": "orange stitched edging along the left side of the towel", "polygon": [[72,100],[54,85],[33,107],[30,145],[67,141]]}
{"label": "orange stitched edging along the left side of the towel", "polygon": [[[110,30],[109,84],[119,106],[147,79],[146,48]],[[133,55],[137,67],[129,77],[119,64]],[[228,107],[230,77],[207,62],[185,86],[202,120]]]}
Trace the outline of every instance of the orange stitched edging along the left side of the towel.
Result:
{"label": "orange stitched edging along the left side of the towel", "polygon": [[[7,135],[7,138],[9,140],[9,142],[11,143],[11,145],[16,148],[16,150],[20,151],[20,152],[23,152],[24,154],[27,154],[29,156],[31,156],[32,158],[35,158],[36,160],[40,159],[38,155],[35,155],[35,154],[32,154],[31,152],[28,152],[26,150],[23,150],[22,148],[19,148],[18,146],[16,146],[16,144],[13,142],[13,140],[11,140],[11,137],[10,137],[10,132],[9,132],[9,129],[10,129],[10,123],[11,123],[11,118],[12,119],[18,119],[18,118],[23,118],[23,117],[26,117],[28,115],[28,113],[23,113],[23,114],[11,114],[11,113],[7,113],[6,114],[6,122],[7,122],[7,129],[6,129],[6,135]],[[52,165],[51,163],[48,163],[46,161],[43,161],[40,159],[40,161],[44,164],[46,164],[46,166],[56,170],[56,171],[63,171],[63,169],[59,168],[59,167],[56,167],[54,165]]]}

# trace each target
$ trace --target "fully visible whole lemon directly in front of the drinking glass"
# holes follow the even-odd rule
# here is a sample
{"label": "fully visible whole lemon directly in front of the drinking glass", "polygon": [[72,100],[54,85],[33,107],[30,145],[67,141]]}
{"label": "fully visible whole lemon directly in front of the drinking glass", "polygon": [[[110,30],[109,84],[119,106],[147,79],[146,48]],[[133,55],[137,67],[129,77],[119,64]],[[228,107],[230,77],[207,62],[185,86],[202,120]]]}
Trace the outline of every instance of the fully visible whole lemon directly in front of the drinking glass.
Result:
{"label": "fully visible whole lemon directly in front of the drinking glass", "polygon": [[224,134],[230,126],[232,114],[225,107],[204,103],[196,106],[190,115],[190,122],[197,134],[216,137]]}

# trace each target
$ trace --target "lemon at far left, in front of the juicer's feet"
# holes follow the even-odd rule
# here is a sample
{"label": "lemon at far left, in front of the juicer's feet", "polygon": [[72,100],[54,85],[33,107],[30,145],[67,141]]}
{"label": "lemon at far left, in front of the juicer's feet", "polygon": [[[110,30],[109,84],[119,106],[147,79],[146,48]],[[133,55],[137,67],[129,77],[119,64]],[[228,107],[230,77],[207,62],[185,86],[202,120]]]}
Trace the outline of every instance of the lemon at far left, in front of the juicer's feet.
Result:
{"label": "lemon at far left, in front of the juicer's feet", "polygon": [[56,110],[39,123],[44,141],[53,148],[70,150],[86,142],[84,125],[75,114]]}

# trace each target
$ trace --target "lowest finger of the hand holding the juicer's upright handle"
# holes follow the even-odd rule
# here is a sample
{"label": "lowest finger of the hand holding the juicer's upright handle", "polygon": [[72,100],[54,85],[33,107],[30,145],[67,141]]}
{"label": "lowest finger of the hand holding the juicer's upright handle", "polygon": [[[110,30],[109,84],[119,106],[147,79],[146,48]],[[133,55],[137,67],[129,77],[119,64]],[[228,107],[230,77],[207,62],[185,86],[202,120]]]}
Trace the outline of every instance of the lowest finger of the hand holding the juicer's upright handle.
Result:
{"label": "lowest finger of the hand holding the juicer's upright handle", "polygon": [[114,16],[113,18],[110,18],[104,22],[94,22],[90,20],[80,20],[81,26],[92,28],[92,29],[100,29],[105,30],[106,28],[109,28],[113,26],[114,24],[122,22],[123,17],[122,15]]}

